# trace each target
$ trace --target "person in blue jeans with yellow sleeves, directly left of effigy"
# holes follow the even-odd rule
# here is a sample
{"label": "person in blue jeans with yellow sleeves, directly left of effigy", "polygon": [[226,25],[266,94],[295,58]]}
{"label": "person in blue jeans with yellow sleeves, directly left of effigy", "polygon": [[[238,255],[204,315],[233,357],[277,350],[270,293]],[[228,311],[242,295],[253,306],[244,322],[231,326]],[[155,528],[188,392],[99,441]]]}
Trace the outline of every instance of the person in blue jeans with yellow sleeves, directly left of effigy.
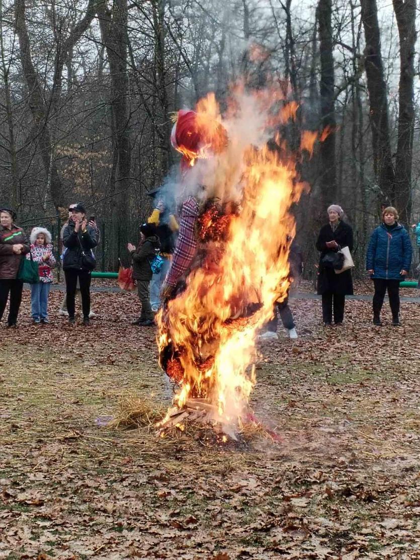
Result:
{"label": "person in blue jeans with yellow sleeves, directly left of effigy", "polygon": [[158,191],[150,194],[155,195],[157,204],[147,222],[156,225],[157,236],[160,240],[159,254],[163,259],[162,268],[159,272],[153,274],[150,283],[150,305],[152,306],[152,311],[157,312],[161,306],[161,288],[171,265],[171,258],[175,250],[175,240],[179,225],[174,214],[172,214],[167,207],[167,204],[159,197]]}

